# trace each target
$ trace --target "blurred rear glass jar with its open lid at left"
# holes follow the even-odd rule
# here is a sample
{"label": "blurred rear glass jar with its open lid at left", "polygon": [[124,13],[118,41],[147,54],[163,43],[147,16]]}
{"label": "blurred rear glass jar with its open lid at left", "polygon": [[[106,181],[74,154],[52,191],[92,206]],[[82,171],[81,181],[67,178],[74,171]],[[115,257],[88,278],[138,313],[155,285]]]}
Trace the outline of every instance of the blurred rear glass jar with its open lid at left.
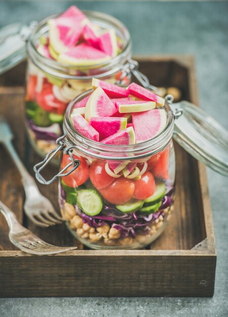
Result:
{"label": "blurred rear glass jar with its open lid at left", "polygon": [[[8,38],[9,46],[2,48],[9,51],[9,56],[0,57],[0,73],[14,66],[28,55],[26,73],[25,116],[26,128],[31,145],[37,153],[45,156],[55,147],[56,139],[62,134],[64,112],[70,100],[91,88],[93,77],[109,83],[121,81],[128,85],[131,81],[129,65],[132,56],[131,38],[125,25],[104,13],[85,11],[89,20],[103,29],[114,28],[118,37],[120,52],[116,57],[92,66],[72,66],[61,64],[39,53],[37,44],[40,38],[45,38],[49,31],[48,20],[40,23],[31,23],[29,27],[18,25],[8,26],[3,31],[8,38],[11,35],[15,41],[15,34],[19,34],[16,52],[12,53],[12,38]],[[15,29],[16,27],[16,29]],[[26,40],[26,48],[22,40]],[[7,41],[6,41],[7,42]],[[1,51],[1,47],[0,47]],[[16,57],[15,57],[16,56]],[[133,67],[133,68],[134,68]],[[58,164],[58,157],[52,163]]]}

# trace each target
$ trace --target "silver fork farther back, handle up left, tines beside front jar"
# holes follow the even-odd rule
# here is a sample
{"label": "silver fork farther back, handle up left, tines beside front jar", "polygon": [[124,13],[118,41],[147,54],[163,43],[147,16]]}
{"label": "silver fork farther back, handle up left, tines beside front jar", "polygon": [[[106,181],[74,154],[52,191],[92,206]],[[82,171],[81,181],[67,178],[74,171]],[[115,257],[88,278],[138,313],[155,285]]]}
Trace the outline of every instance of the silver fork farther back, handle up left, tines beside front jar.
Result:
{"label": "silver fork farther back, handle up left, tines beside front jar", "polygon": [[20,157],[18,156],[12,144],[12,139],[13,134],[9,125],[4,120],[4,118],[0,117],[0,143],[5,145],[21,174],[22,184],[24,186],[26,195],[24,203],[25,214],[31,219],[32,222],[41,227],[48,227],[57,223],[61,223],[61,221],[64,221],[64,219],[58,215],[52,203],[41,194],[34,179],[27,172],[26,168],[21,162]]}

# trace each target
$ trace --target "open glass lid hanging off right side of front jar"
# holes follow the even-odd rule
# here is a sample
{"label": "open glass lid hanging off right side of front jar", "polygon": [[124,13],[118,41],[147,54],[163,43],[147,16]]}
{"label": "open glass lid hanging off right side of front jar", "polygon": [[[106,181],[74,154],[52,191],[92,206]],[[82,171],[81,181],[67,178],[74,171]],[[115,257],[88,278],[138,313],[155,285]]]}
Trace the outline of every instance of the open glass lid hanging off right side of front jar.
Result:
{"label": "open glass lid hanging off right side of front jar", "polygon": [[228,131],[190,102],[167,101],[175,117],[174,140],[197,160],[228,176]]}

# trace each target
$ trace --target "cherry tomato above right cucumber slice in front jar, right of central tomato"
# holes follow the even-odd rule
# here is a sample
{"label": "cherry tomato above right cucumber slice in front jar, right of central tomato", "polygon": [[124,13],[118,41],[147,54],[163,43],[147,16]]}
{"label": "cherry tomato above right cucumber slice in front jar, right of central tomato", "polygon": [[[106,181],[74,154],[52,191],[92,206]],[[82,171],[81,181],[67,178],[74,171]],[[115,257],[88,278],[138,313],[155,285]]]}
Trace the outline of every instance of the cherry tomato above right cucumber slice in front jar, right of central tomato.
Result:
{"label": "cherry tomato above right cucumber slice in front jar, right of central tomato", "polygon": [[153,195],[156,189],[155,178],[150,172],[145,172],[139,180],[135,180],[134,198],[143,200]]}

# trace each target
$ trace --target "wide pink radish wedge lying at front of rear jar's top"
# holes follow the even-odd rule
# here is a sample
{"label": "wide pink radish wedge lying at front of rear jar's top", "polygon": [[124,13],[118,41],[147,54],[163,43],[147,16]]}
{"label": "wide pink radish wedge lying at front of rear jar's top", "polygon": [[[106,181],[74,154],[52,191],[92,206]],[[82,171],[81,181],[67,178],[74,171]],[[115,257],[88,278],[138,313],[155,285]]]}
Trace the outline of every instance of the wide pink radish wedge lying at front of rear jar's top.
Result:
{"label": "wide pink radish wedge lying at front of rear jar's top", "polygon": [[94,64],[105,63],[110,58],[104,52],[95,49],[87,43],[82,43],[70,49],[65,54],[60,54],[58,62],[68,65],[92,66]]}

